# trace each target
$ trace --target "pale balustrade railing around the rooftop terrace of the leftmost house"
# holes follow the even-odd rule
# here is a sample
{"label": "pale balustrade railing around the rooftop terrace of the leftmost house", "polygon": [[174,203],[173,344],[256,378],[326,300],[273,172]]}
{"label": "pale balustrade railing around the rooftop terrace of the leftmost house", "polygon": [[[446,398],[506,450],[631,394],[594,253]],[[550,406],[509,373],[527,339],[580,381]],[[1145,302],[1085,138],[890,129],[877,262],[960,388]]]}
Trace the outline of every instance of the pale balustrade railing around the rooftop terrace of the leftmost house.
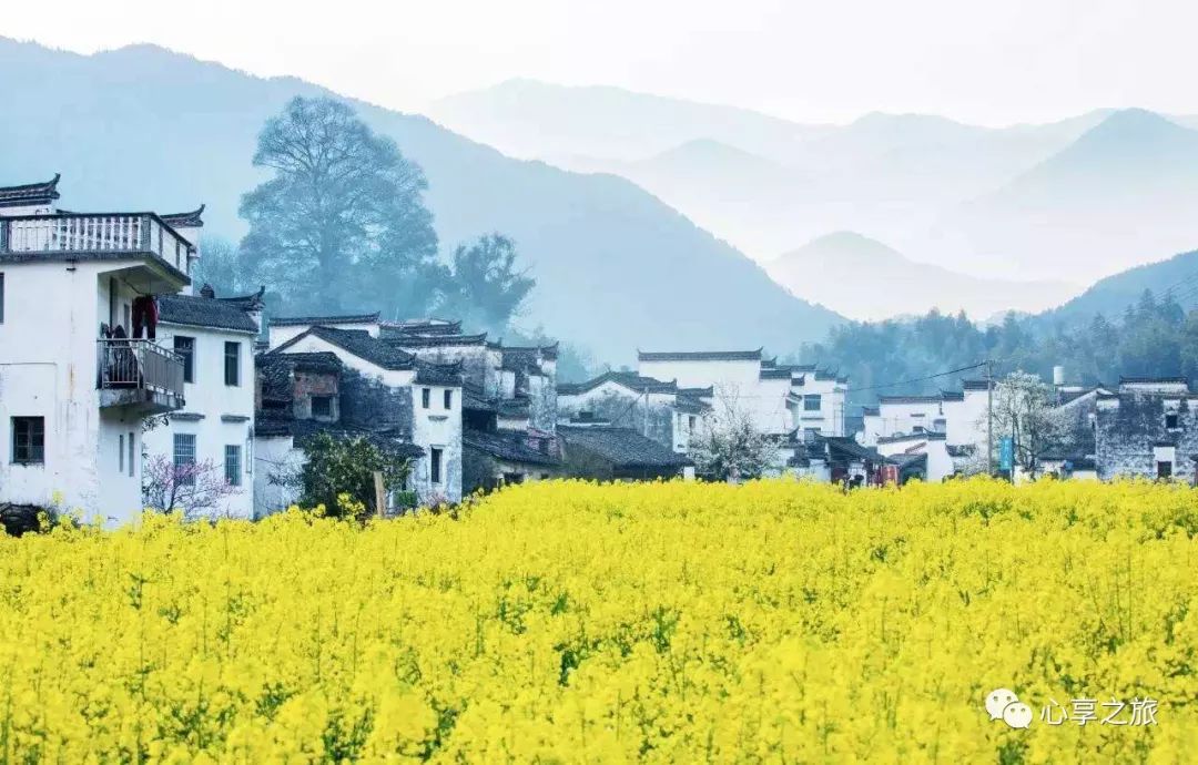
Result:
{"label": "pale balustrade railing around the rooftop terrace of the leftmost house", "polygon": [[0,255],[152,255],[187,273],[192,244],[155,213],[54,213],[0,217]]}

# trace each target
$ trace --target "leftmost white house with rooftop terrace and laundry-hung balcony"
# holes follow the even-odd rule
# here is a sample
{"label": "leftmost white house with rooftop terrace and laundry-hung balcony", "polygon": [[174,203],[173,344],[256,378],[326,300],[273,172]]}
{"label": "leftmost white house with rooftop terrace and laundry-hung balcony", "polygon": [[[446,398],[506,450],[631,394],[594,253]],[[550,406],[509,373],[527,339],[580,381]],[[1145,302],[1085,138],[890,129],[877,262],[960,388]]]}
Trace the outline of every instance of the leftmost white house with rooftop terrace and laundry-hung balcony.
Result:
{"label": "leftmost white house with rooftop terrace and laundry-hung balcony", "polygon": [[155,213],[61,212],[58,181],[0,188],[0,503],[123,522],[143,421],[184,406],[147,306],[189,284],[195,248]]}

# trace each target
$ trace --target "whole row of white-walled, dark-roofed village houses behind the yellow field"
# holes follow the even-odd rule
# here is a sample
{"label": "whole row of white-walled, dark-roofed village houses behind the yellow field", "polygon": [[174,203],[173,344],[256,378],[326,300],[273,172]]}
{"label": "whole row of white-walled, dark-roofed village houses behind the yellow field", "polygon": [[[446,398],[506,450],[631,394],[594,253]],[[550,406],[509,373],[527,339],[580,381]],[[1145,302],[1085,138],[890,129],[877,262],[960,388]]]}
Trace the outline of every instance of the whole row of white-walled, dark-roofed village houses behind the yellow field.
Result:
{"label": "whole row of white-walled, dark-roofed village houses behind the yellow field", "polygon": [[[195,466],[226,490],[213,514],[261,517],[296,502],[317,433],[409,457],[392,502],[561,476],[694,478],[696,442],[736,418],[776,447],[768,473],[812,480],[936,481],[988,454],[984,380],[885,395],[855,418],[847,377],[761,348],[640,351],[635,371],[559,383],[556,345],[504,345],[453,320],[267,318],[262,290],[193,287],[202,206],[67,212],[58,184],[0,188],[0,505],[123,521],[152,466]],[[1045,469],[1193,474],[1185,380],[1054,384],[1078,438]]]}

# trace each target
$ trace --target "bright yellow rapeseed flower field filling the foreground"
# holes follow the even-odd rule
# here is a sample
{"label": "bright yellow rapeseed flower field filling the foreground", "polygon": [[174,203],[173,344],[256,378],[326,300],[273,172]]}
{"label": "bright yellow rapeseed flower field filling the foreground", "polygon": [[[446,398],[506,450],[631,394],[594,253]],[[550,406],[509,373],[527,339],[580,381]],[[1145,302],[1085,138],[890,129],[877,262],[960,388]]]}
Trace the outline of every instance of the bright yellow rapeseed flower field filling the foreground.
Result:
{"label": "bright yellow rapeseed flower field filling the foreground", "polygon": [[987,480],[59,528],[0,540],[0,757],[1193,763],[1196,535],[1186,487]]}

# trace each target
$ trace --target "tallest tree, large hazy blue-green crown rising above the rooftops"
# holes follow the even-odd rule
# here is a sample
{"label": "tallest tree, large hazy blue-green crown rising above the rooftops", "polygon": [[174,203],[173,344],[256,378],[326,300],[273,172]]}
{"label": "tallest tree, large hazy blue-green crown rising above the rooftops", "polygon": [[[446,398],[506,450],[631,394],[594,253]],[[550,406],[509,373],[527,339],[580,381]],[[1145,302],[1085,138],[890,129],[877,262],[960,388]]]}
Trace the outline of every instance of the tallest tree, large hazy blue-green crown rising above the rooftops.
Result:
{"label": "tallest tree, large hazy blue-green crown rising above the rooftops", "polygon": [[394,141],[339,101],[297,97],[262,128],[254,165],[274,172],[241,200],[254,284],[291,310],[425,310],[440,275],[428,183]]}

